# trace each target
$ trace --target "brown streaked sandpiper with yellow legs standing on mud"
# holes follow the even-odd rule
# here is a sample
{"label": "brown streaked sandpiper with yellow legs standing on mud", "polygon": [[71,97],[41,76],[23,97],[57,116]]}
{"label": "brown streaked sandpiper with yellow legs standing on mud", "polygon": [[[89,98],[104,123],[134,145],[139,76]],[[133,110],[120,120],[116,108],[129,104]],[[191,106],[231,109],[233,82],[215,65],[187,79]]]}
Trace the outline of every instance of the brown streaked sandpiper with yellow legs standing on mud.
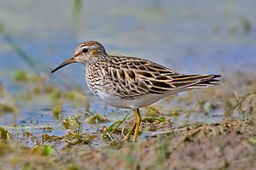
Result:
{"label": "brown streaked sandpiper with yellow legs standing on mud", "polygon": [[217,82],[219,75],[185,75],[147,59],[109,55],[100,42],[79,44],[73,56],[52,73],[71,63],[85,66],[85,79],[90,91],[108,105],[131,109],[136,122],[125,139],[134,131],[133,141],[141,124],[139,108],[172,94],[192,88],[207,88]]}

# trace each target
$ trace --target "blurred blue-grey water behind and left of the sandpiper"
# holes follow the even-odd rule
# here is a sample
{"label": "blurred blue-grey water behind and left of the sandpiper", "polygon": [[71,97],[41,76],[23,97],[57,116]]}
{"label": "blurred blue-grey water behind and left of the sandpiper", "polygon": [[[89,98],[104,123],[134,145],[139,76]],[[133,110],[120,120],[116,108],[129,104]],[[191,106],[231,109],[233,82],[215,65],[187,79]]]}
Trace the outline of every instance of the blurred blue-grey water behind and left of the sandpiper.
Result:
{"label": "blurred blue-grey water behind and left of the sandpiper", "polygon": [[[0,122],[49,126],[76,115],[81,107],[63,105],[67,115],[53,116],[53,103],[58,100],[52,102],[43,94],[60,99],[56,87],[80,87],[91,96],[83,65],[49,74],[80,42],[89,40],[102,42],[108,54],[143,57],[188,74],[225,77],[237,71],[255,72],[255,6],[253,0],[0,0],[0,83],[2,94],[12,96],[18,108],[14,111],[19,112],[15,122],[9,114],[2,115]],[[38,99],[33,98],[36,94]],[[2,104],[6,101],[1,99]],[[90,102],[90,111],[108,115],[116,111],[105,109],[98,100]]]}

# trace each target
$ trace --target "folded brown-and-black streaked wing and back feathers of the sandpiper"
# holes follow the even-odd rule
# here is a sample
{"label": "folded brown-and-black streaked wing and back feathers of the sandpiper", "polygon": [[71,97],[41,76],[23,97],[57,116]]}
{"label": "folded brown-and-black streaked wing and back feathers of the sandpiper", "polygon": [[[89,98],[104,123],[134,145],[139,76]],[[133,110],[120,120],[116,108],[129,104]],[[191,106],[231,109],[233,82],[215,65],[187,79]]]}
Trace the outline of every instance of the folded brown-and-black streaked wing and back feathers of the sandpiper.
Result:
{"label": "folded brown-and-black streaked wing and back feathers of the sandpiper", "polygon": [[147,59],[112,56],[109,78],[116,81],[116,95],[134,98],[146,94],[172,94],[190,88],[205,88],[218,81],[218,75],[184,75]]}

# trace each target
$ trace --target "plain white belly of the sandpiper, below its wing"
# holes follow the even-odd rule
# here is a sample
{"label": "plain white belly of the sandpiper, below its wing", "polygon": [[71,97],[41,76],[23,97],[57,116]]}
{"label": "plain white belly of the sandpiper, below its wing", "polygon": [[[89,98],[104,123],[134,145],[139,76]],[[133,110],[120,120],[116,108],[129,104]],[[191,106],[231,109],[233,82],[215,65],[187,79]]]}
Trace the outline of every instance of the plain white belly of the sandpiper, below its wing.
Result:
{"label": "plain white belly of the sandpiper, below its wing", "polygon": [[141,107],[145,107],[147,105],[151,105],[154,102],[164,98],[166,95],[155,95],[155,94],[148,94],[137,97],[135,99],[120,99],[113,96],[110,96],[104,92],[97,94],[99,99],[103,102],[107,103],[108,105],[112,105],[119,108],[124,109],[137,109]]}

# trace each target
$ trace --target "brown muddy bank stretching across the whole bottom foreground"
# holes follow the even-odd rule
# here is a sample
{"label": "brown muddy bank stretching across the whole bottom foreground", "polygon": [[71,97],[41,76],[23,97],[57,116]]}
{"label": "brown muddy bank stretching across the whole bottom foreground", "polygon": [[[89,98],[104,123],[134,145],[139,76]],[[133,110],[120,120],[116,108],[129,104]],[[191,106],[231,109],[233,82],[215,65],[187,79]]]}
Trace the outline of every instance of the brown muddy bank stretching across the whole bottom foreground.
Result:
{"label": "brown muddy bank stretching across the whole bottom foreground", "polygon": [[32,149],[0,144],[1,169],[254,169],[256,119],[195,123],[170,128],[137,144],[109,144],[99,149]]}

